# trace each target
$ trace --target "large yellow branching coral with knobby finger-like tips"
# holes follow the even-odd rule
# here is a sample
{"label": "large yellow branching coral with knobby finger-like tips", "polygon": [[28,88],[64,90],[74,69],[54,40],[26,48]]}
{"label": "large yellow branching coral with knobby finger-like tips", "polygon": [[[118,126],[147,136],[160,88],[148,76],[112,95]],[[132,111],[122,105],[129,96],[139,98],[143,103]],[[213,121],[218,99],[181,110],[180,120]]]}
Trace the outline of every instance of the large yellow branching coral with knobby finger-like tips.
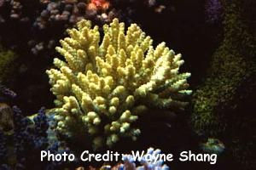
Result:
{"label": "large yellow branching coral with knobby finger-like tips", "polygon": [[186,105],[181,99],[191,94],[190,73],[179,73],[181,54],[165,42],[154,48],[139,26],[132,24],[125,33],[117,19],[103,26],[102,42],[98,26],[91,28],[89,20],[77,26],[56,48],[67,62],[55,58],[57,69],[46,71],[60,133],[73,136],[81,127],[95,149],[104,143],[110,147],[120,136],[137,139],[140,129],[131,123],[148,108]]}

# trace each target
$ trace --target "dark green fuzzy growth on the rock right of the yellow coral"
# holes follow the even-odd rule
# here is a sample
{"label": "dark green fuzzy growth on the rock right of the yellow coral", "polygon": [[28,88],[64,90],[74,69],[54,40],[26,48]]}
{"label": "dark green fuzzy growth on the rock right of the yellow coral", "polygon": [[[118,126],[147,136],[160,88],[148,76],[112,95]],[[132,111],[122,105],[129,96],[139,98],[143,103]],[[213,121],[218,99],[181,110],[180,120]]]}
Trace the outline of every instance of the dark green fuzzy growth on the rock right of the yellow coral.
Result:
{"label": "dark green fuzzy growth on the rock right of the yellow coral", "polygon": [[224,7],[224,40],[212,56],[210,74],[195,91],[193,99],[192,122],[196,130],[207,135],[224,132],[224,112],[236,109],[233,101],[243,83],[255,74],[252,60],[255,40],[241,22],[236,3],[227,3]]}

